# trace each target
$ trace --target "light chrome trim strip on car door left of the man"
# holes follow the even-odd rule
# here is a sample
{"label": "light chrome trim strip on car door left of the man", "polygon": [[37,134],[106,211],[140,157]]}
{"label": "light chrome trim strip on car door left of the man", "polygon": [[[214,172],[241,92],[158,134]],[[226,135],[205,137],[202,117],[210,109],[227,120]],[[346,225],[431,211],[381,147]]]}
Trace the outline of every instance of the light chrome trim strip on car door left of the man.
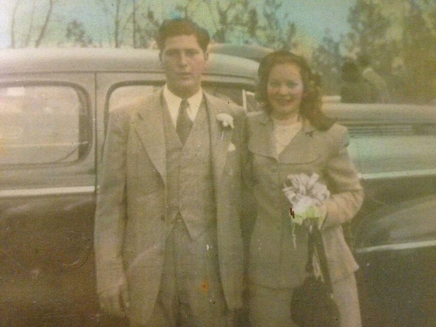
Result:
{"label": "light chrome trim strip on car door left of the man", "polygon": [[4,197],[23,197],[41,195],[69,195],[94,193],[95,186],[73,186],[64,188],[43,188],[43,189],[19,189],[19,190],[0,190],[0,198]]}

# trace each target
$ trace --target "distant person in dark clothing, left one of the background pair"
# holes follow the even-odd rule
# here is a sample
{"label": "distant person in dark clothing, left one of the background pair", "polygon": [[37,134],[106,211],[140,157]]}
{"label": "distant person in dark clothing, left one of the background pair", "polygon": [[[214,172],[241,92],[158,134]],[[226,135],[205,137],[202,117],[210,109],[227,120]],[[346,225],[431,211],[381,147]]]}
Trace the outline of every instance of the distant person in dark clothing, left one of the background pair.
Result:
{"label": "distant person in dark clothing, left one of the background pair", "polygon": [[376,101],[377,91],[362,78],[359,67],[347,60],[341,68],[341,102],[367,104]]}

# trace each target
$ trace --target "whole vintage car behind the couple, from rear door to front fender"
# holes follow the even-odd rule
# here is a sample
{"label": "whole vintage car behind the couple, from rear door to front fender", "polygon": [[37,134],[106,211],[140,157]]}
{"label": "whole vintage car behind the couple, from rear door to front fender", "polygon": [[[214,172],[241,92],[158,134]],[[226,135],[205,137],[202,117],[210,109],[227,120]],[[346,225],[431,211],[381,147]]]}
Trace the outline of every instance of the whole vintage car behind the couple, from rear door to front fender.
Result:
{"label": "whole vintage car behind the couple, from rear door to front fender", "polygon": [[[257,110],[257,65],[211,54],[203,86]],[[97,304],[100,158],[110,111],[163,83],[154,50],[0,51],[0,325],[126,324]],[[348,233],[361,266],[364,325],[429,325],[436,108],[326,101],[323,110],[348,127],[365,187]]]}

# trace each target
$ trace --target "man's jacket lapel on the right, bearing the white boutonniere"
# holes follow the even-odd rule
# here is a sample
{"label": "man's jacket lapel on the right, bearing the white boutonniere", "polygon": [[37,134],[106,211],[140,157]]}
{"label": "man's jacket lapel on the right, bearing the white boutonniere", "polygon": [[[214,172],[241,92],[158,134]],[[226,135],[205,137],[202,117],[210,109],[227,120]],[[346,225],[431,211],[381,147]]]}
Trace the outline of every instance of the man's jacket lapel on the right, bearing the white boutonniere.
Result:
{"label": "man's jacket lapel on the right, bearing the white boutonniere", "polygon": [[220,108],[220,105],[216,103],[213,97],[207,93],[204,93],[204,96],[209,119],[214,187],[215,194],[217,194],[216,188],[219,186],[226,164],[227,149],[231,141],[233,129],[222,129],[221,123],[216,119],[216,115],[225,111],[223,108]]}

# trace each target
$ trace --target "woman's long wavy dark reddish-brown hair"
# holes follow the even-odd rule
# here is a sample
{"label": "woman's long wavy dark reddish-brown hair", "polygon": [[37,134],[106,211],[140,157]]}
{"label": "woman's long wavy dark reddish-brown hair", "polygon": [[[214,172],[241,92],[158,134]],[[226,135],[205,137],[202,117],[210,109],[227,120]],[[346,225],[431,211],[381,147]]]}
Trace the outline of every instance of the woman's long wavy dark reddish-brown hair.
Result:
{"label": "woman's long wavy dark reddish-brown hair", "polygon": [[256,100],[263,110],[271,114],[272,108],[268,99],[267,86],[269,74],[274,66],[280,64],[293,64],[300,68],[303,81],[303,98],[300,104],[300,115],[306,118],[317,130],[326,131],[333,125],[333,120],[321,111],[321,86],[318,76],[313,74],[306,60],[288,51],[274,51],[266,55],[257,70],[259,84],[256,90]]}

